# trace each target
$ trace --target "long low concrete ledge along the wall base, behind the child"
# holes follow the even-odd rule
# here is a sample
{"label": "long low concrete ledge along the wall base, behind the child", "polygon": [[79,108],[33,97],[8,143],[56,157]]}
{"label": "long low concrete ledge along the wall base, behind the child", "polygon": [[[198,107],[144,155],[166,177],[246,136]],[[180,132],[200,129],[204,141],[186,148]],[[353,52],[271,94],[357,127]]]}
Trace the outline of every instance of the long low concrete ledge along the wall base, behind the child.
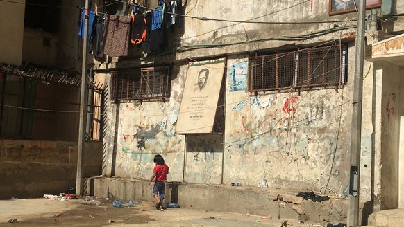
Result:
{"label": "long low concrete ledge along the wall base, behind the child", "polygon": [[[148,181],[92,177],[85,185],[88,194],[99,197],[154,201]],[[167,182],[165,202],[178,203],[181,208],[295,219],[305,223],[346,222],[346,199],[314,202],[297,197],[298,192],[303,191]]]}

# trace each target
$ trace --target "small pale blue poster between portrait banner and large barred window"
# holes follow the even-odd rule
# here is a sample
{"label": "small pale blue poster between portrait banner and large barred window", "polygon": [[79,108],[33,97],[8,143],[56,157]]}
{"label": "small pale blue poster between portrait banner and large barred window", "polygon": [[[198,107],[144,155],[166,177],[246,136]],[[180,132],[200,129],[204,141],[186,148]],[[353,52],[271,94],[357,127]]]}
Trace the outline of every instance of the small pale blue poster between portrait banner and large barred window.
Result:
{"label": "small pale blue poster between portrait banner and large barred window", "polygon": [[247,62],[239,62],[230,66],[230,91],[244,91],[247,80]]}

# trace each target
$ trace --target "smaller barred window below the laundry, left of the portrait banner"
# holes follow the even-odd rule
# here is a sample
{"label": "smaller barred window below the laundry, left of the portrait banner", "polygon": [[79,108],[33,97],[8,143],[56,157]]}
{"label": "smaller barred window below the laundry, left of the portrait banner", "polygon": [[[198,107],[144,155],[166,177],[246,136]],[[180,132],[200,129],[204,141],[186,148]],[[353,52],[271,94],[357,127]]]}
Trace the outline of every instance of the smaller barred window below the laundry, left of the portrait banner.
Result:
{"label": "smaller barred window below the laundry, left of the portrait banner", "polygon": [[111,100],[166,100],[169,68],[152,67],[112,72]]}

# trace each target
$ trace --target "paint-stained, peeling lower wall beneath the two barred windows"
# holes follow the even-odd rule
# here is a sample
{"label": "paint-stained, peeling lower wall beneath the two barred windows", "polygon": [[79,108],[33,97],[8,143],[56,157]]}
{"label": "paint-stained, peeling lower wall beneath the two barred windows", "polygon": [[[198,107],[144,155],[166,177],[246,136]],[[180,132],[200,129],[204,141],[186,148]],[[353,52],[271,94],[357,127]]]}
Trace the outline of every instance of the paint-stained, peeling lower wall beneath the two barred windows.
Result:
{"label": "paint-stained, peeling lower wall beneath the two barred windows", "polygon": [[[187,73],[187,66],[181,65],[171,82],[171,98],[167,104],[127,102],[117,105],[107,101],[110,114],[106,125],[117,131],[115,135],[113,130],[106,131],[104,145],[110,152],[106,163],[111,164],[104,173],[148,179],[154,165],[154,154],[163,154],[172,170],[171,181],[183,181],[184,174],[185,182],[190,183],[240,182],[255,186],[266,178],[275,188],[318,190],[328,186],[329,189],[323,192],[342,194],[349,179],[354,56],[355,48],[351,46],[348,49],[346,87],[338,91],[314,89],[258,96],[260,102],[269,102],[267,107],[253,102],[253,97],[246,91],[229,91],[228,67],[224,140],[220,135],[211,138],[186,136],[186,146],[183,136],[171,133],[175,125],[170,125],[171,114],[179,109],[180,88]],[[230,57],[227,65],[245,60],[246,55],[237,55]],[[369,73],[364,80],[361,198],[370,201],[373,76],[369,62],[365,68]],[[108,77],[100,75],[103,76]],[[246,105],[233,111],[240,102]],[[142,137],[144,147],[138,147]],[[108,172],[109,168],[114,174]]]}

